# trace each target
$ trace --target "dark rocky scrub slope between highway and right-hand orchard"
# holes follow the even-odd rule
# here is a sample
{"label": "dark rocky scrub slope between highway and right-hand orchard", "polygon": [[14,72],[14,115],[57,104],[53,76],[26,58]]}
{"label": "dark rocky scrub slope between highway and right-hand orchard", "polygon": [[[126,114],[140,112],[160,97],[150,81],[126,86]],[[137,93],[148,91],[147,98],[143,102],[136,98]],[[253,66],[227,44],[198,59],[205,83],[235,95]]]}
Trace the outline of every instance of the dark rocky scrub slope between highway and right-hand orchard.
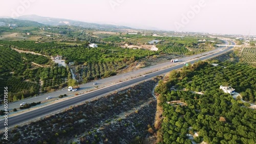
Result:
{"label": "dark rocky scrub slope between highway and right-hand orchard", "polygon": [[[8,143],[141,143],[155,119],[150,80],[10,130]],[[4,143],[2,139],[0,143]]]}

